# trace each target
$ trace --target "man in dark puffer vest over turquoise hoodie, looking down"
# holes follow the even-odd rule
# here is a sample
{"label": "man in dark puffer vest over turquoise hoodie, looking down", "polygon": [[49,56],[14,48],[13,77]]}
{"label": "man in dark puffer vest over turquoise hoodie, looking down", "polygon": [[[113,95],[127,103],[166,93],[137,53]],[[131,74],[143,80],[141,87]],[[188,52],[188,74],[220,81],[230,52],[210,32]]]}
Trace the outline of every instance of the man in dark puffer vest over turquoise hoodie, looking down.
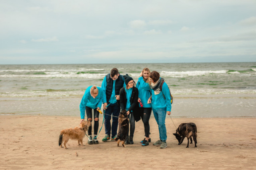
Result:
{"label": "man in dark puffer vest over turquoise hoodie, looking down", "polygon": [[[102,82],[101,88],[103,90],[103,108],[105,110],[105,134],[102,139],[103,142],[110,140],[115,141],[118,127],[118,116],[120,113],[120,96],[119,91],[124,87],[124,77],[119,74],[117,68],[113,68],[110,74],[107,74]],[[107,107],[108,106],[108,107]],[[111,127],[112,115],[112,127]]]}

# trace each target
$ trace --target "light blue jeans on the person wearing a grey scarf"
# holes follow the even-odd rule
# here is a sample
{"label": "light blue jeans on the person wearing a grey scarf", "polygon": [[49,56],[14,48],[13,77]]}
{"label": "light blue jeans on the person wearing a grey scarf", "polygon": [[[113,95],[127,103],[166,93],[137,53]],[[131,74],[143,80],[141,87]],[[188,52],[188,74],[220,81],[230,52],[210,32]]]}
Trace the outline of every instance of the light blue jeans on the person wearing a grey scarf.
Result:
{"label": "light blue jeans on the person wearing a grey scarf", "polygon": [[165,127],[165,118],[166,118],[166,108],[163,109],[153,109],[153,114],[158,125],[159,130],[159,138],[162,142],[166,142],[167,134],[166,134],[166,127]]}

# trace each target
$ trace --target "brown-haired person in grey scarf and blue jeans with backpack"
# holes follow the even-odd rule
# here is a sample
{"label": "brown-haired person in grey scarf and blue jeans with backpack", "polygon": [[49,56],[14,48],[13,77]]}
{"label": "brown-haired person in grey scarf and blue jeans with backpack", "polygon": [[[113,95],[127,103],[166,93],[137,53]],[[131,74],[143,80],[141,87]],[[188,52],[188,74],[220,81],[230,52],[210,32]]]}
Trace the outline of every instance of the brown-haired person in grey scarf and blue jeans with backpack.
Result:
{"label": "brown-haired person in grey scarf and blue jeans with backpack", "polygon": [[[156,141],[153,145],[161,145],[160,148],[164,149],[167,147],[165,118],[166,113],[170,115],[172,109],[171,93],[168,85],[164,82],[165,79],[161,78],[158,72],[152,71],[149,74],[149,80],[151,81],[150,88],[152,96],[148,99],[148,103],[152,105],[152,111],[158,125],[160,138],[160,140]],[[161,90],[162,82],[163,86]]]}

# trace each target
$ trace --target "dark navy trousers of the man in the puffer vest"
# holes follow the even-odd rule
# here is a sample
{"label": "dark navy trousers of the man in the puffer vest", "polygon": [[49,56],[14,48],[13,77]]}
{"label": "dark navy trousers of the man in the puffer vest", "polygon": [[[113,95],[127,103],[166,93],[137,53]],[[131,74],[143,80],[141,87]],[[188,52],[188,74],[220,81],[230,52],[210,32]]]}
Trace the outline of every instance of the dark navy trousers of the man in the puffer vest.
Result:
{"label": "dark navy trousers of the man in the puffer vest", "polygon": [[[118,116],[120,113],[120,109],[121,109],[120,106],[116,102],[114,104],[111,103],[105,110],[105,120],[104,120],[105,134],[110,136],[112,131],[112,136],[111,136],[112,138],[117,134]],[[112,117],[112,127],[110,123],[111,117]]]}

